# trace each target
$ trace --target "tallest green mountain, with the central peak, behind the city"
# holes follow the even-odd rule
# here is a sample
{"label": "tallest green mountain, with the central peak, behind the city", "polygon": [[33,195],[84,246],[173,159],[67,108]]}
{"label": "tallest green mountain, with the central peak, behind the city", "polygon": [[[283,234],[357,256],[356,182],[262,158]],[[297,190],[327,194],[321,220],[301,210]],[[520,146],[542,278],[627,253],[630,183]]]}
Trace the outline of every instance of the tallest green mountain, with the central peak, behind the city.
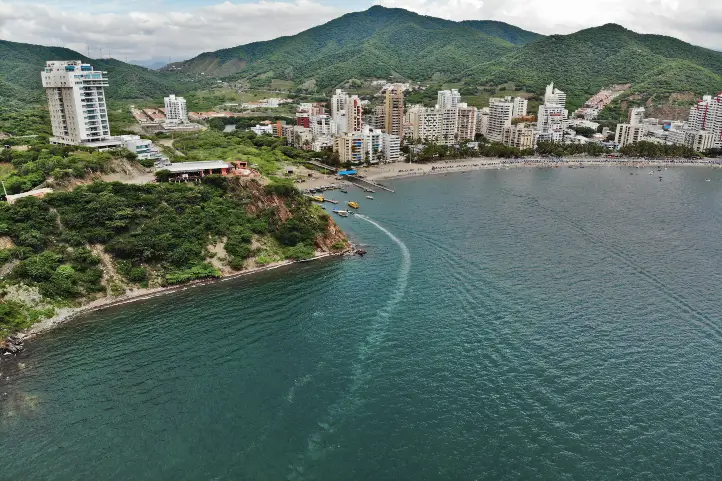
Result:
{"label": "tallest green mountain, with the central peak, behind the city", "polygon": [[453,22],[374,6],[298,35],[208,52],[170,65],[207,76],[330,88],[351,78],[448,77],[519,48],[536,34],[500,22]]}

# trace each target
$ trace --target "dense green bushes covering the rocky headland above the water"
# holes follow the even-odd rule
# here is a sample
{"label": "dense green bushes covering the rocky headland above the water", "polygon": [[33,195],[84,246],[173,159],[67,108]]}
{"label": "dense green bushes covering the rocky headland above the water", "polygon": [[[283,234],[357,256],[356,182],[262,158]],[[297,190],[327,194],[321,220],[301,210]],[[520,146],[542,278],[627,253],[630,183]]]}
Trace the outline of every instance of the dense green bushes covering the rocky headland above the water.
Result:
{"label": "dense green bushes covering the rocky headland above the water", "polygon": [[[306,259],[329,222],[289,183],[264,188],[215,176],[201,185],[96,182],[2,204],[0,238],[13,247],[0,250],[0,269],[8,272],[0,297],[18,285],[37,289],[42,301],[3,299],[0,331],[26,326],[52,306],[121,294],[125,286],[218,277],[215,262],[241,269],[256,256],[261,263]],[[254,239],[262,247],[253,247]],[[211,254],[218,241],[227,258]]]}

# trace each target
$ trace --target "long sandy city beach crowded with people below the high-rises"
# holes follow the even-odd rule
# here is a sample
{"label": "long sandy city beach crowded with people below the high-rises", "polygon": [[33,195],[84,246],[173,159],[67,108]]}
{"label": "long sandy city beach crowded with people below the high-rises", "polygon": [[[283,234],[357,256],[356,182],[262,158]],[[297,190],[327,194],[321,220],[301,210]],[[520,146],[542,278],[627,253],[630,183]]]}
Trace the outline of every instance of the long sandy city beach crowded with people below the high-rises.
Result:
{"label": "long sandy city beach crowded with people below the high-rises", "polygon": [[448,173],[464,173],[477,170],[518,169],[518,168],[578,168],[578,167],[709,167],[720,168],[722,165],[707,162],[671,161],[671,160],[592,160],[568,158],[560,161],[539,161],[523,159],[490,159],[486,157],[473,157],[469,159],[455,159],[429,162],[426,164],[396,163],[384,166],[361,167],[359,174],[362,179],[371,181],[402,179],[406,177],[422,177]]}

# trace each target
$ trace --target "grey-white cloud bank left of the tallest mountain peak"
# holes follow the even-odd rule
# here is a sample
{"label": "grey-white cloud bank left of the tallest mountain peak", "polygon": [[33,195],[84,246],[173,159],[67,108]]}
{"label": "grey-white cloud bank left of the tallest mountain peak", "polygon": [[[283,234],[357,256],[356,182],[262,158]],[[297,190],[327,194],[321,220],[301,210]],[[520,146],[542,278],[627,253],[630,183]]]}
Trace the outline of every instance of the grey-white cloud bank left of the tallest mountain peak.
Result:
{"label": "grey-white cloud bank left of the tallest mountain peak", "polygon": [[[148,3],[153,3],[150,0]],[[102,2],[99,2],[102,4]],[[101,11],[99,5],[94,12]],[[108,10],[106,10],[108,11]],[[315,0],[226,1],[186,11],[84,13],[0,0],[0,38],[118,59],[190,58],[201,52],[294,35],[344,13]]]}

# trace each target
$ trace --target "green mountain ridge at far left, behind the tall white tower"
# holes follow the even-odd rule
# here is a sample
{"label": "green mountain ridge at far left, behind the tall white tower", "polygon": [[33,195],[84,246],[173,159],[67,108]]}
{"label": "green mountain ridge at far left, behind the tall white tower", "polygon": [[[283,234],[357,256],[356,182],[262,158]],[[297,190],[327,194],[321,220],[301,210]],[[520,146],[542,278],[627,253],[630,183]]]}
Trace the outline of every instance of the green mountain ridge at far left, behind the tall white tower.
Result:
{"label": "green mountain ridge at far left, behind the tall white tower", "polygon": [[148,70],[115,59],[90,59],[61,47],[44,47],[0,40],[0,105],[27,106],[44,102],[40,72],[48,60],[82,60],[110,77],[109,100],[154,98],[180,92],[184,77]]}

